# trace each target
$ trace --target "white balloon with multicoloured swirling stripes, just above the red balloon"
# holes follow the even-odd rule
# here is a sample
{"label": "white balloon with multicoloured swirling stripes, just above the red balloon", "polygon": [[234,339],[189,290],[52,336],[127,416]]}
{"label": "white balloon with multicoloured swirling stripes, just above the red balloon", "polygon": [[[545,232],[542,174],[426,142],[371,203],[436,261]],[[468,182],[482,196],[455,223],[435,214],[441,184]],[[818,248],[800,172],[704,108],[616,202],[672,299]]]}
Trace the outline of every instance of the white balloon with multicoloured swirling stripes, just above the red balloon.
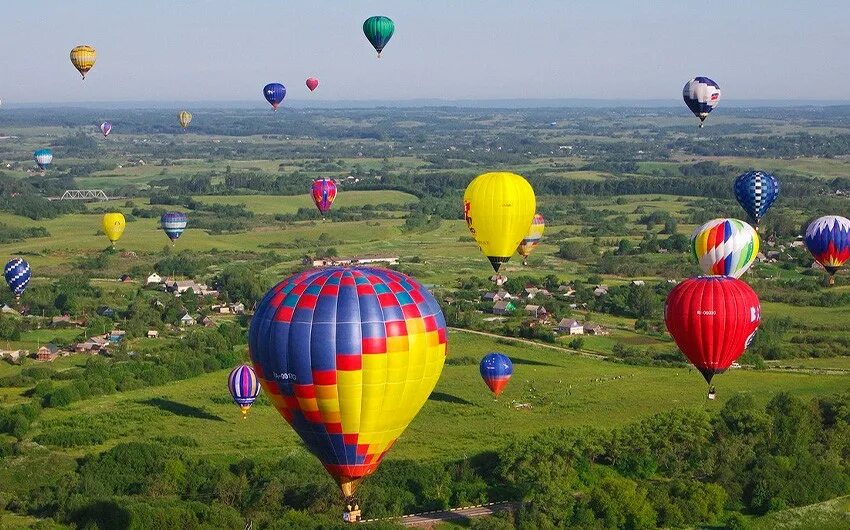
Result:
{"label": "white balloon with multicoloured swirling stripes, just above the red balloon", "polygon": [[740,278],[759,252],[759,236],[738,219],[712,219],[691,236],[691,251],[706,274]]}

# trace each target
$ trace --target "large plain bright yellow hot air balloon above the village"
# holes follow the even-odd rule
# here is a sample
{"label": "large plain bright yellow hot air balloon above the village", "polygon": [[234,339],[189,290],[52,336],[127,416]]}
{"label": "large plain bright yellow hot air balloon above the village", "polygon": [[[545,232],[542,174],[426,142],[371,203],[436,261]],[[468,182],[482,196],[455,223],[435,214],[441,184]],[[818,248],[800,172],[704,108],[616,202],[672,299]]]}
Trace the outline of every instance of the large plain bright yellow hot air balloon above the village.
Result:
{"label": "large plain bright yellow hot air balloon above the village", "polygon": [[514,173],[484,173],[466,187],[463,215],[493,270],[498,272],[516,251],[536,209],[531,184]]}

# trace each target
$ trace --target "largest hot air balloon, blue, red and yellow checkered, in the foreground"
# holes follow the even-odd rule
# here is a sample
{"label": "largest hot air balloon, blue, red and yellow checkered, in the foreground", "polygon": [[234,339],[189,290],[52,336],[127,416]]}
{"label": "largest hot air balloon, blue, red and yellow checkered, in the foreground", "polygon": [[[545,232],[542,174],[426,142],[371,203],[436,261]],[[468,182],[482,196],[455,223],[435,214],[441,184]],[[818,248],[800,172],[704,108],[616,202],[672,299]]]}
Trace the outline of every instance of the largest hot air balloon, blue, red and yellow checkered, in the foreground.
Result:
{"label": "largest hot air balloon, blue, red and yellow checkered, in the foreground", "polygon": [[248,350],[278,412],[352,500],[440,378],[446,324],[405,274],[327,267],[266,293]]}

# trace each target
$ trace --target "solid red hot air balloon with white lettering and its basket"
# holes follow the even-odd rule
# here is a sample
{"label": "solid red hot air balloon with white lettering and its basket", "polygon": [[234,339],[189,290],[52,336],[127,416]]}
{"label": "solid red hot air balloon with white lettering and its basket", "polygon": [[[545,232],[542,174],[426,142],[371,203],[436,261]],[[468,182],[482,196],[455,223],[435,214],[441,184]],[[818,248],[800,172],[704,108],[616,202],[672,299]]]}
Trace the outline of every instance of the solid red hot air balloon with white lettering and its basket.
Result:
{"label": "solid red hot air balloon with white lettering and its basket", "polygon": [[664,305],[667,330],[709,384],[744,353],[760,318],[755,291],[730,276],[689,278],[670,291]]}

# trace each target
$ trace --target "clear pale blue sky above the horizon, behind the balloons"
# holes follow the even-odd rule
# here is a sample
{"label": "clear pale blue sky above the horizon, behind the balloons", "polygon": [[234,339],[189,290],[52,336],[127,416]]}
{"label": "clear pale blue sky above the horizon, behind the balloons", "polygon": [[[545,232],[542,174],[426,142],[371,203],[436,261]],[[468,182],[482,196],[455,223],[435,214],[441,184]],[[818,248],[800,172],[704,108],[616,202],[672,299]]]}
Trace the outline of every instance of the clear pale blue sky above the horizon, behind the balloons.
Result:
{"label": "clear pale blue sky above the horizon, behind the balloons", "polygon": [[[694,75],[730,99],[850,100],[846,0],[17,0],[5,102],[287,99],[676,100]],[[361,31],[396,33],[375,58]],[[68,60],[97,48],[85,82]],[[304,79],[321,86],[309,95]]]}

